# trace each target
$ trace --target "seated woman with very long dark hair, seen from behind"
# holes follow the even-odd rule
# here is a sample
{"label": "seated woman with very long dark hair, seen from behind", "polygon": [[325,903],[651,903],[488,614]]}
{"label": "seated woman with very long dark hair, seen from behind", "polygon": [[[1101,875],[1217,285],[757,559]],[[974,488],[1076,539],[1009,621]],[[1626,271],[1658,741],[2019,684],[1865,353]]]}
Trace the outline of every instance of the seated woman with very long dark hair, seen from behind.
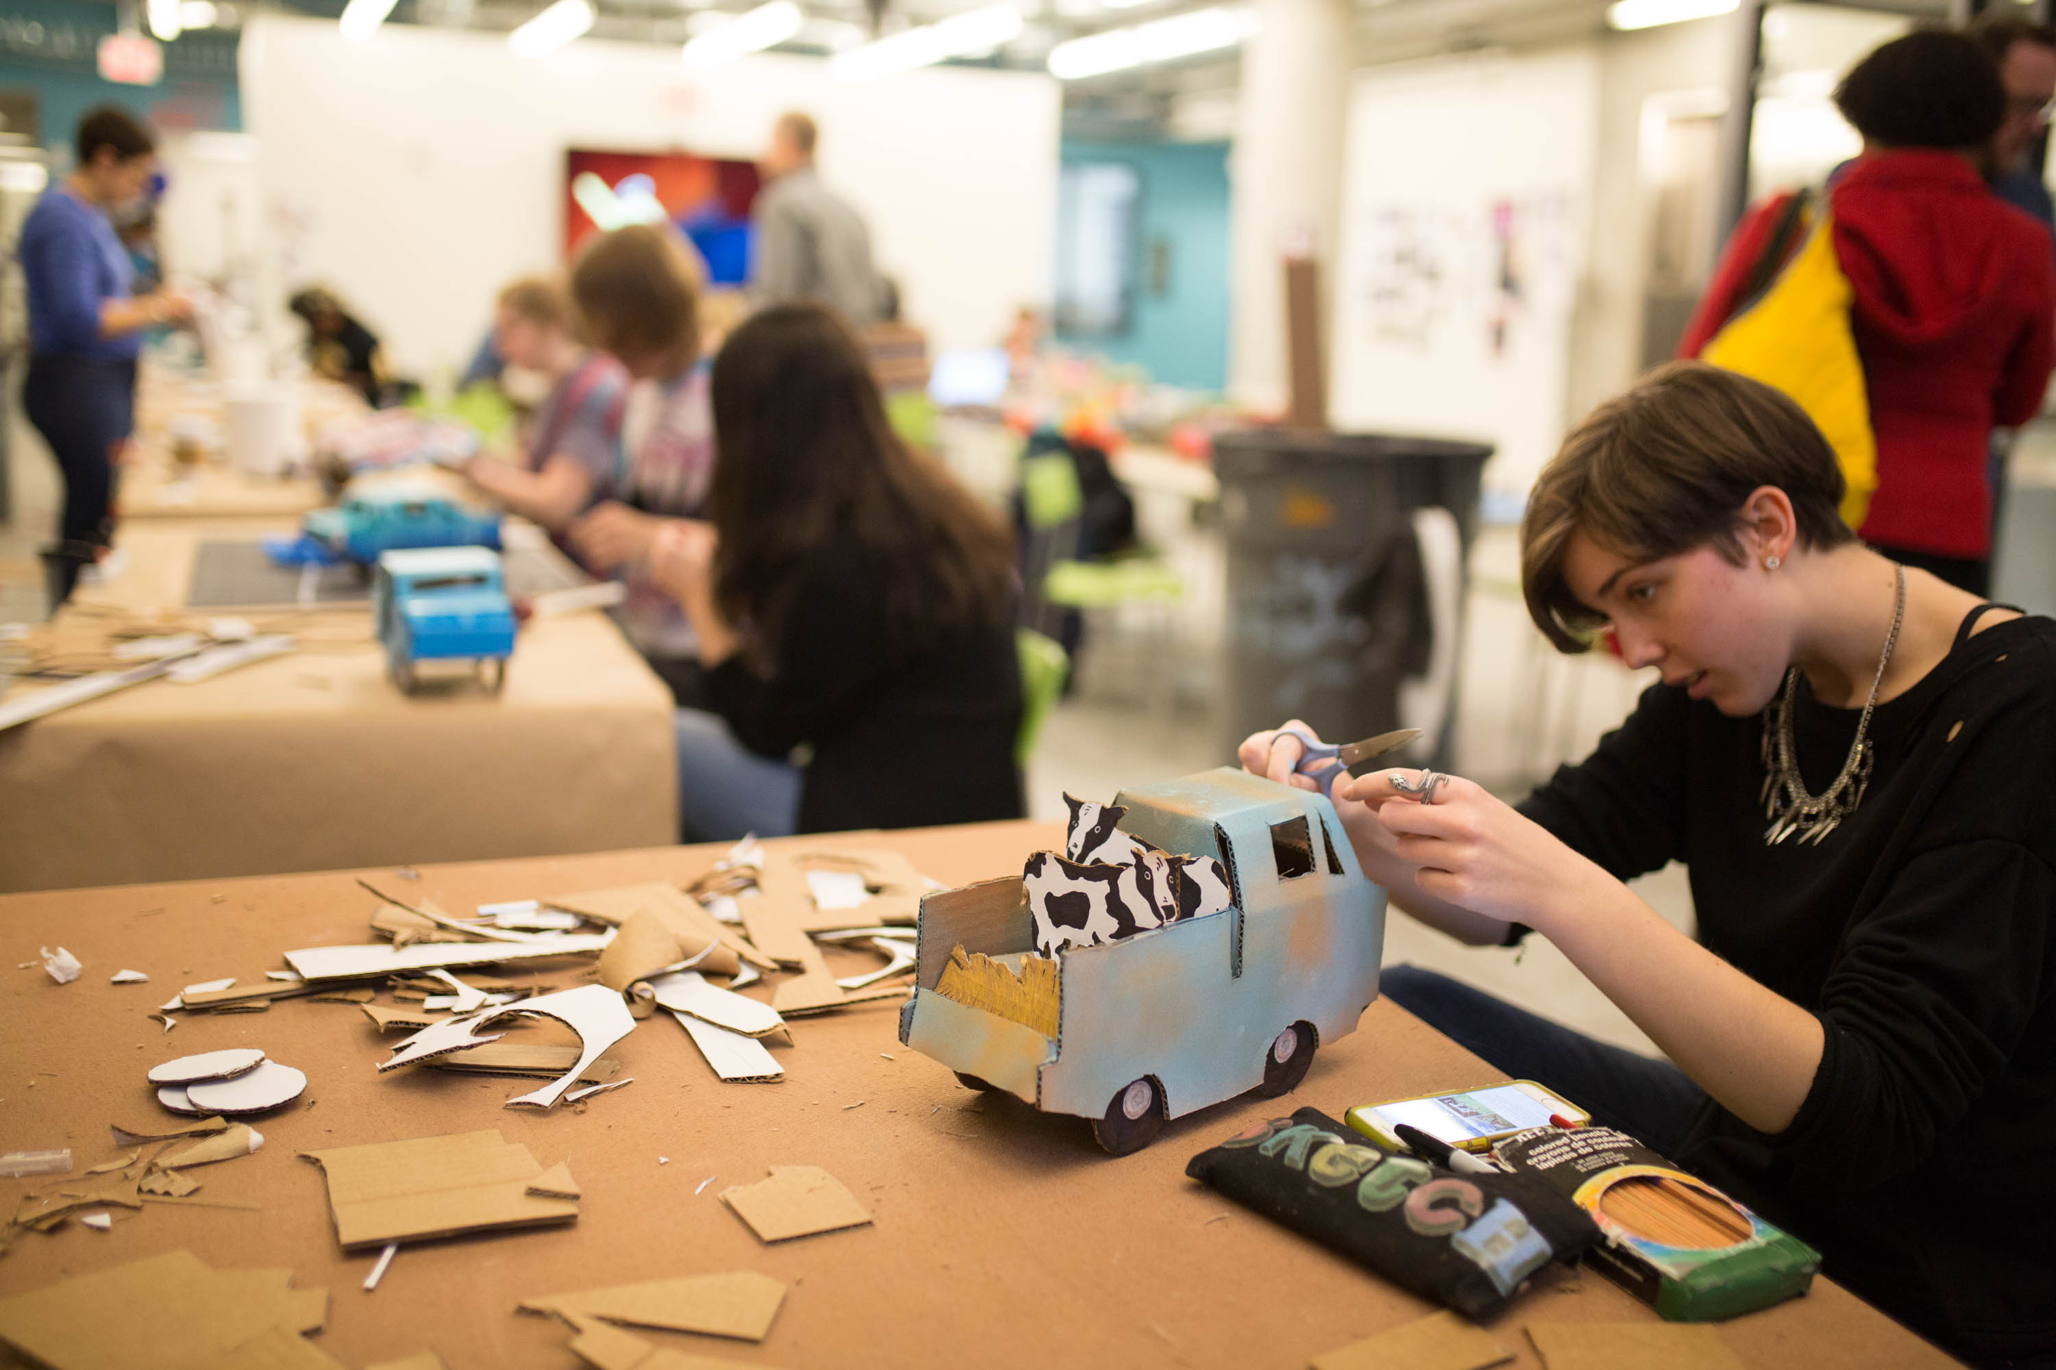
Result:
{"label": "seated woman with very long dark hair, seen from behind", "polygon": [[[711,522],[666,522],[652,573],[734,741],[812,750],[794,830],[1020,817],[1012,538],[892,433],[849,327],[816,304],[742,325],[713,364],[713,440]],[[740,836],[722,811],[750,781],[718,752],[681,711],[687,836]]]}

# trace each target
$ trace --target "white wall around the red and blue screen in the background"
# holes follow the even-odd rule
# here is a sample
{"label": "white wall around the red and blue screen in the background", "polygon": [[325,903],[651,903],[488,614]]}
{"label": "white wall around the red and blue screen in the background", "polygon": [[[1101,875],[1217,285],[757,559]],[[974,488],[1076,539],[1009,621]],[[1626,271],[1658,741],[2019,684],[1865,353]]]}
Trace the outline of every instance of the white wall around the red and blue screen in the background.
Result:
{"label": "white wall around the red and blue screen in the background", "polygon": [[243,31],[241,68],[290,273],[335,286],[403,372],[463,366],[493,292],[559,261],[567,148],[755,156],[785,109],[820,121],[822,179],[938,345],[997,341],[1049,296],[1061,94],[1040,74],[853,84],[779,55],[701,74],[668,47],[522,60],[493,35],[384,25],[356,45],[278,14]]}

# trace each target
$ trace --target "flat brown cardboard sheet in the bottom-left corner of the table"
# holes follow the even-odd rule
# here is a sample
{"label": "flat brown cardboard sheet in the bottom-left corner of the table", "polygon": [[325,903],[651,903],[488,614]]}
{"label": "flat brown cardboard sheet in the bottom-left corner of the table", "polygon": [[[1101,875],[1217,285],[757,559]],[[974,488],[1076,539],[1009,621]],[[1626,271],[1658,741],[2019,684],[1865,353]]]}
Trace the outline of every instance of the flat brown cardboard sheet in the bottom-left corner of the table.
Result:
{"label": "flat brown cardboard sheet in the bottom-left corner of the table", "polygon": [[327,1292],[290,1278],[167,1251],[0,1300],[0,1341],[53,1370],[212,1370],[267,1331],[298,1341],[327,1321]]}

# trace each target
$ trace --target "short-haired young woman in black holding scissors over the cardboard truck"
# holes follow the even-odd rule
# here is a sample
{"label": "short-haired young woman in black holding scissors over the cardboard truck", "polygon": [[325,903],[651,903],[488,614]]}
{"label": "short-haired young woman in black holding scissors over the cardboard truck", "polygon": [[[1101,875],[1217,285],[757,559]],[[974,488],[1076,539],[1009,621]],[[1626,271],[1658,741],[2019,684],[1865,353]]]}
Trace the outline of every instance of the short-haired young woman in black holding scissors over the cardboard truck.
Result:
{"label": "short-haired young woman in black holding scissors over the cardboard truck", "polygon": [[[1412,967],[1388,998],[1723,1185],[1957,1356],[2046,1366],[2056,622],[1871,553],[1840,497],[1783,394],[1651,374],[1542,472],[1521,579],[1556,647],[1608,629],[1663,682],[1519,805],[1380,770],[1336,809],[1396,906],[1468,943],[1548,937],[1676,1064]],[[1287,731],[1242,744],[1306,787],[1299,758]],[[1698,941],[1622,883],[1667,861]]]}

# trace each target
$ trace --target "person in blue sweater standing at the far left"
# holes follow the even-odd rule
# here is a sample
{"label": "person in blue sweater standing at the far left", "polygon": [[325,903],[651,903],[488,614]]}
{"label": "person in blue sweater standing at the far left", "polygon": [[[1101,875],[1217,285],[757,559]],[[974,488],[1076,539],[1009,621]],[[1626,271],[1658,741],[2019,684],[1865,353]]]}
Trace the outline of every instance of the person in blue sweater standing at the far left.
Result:
{"label": "person in blue sweater standing at the far left", "polygon": [[21,230],[23,409],[64,474],[58,542],[43,553],[51,610],[113,540],[115,456],[134,427],[142,333],[191,318],[177,292],[132,296],[130,257],[111,222],[142,199],[154,173],[150,131],[113,105],[93,109],[78,121],[78,168],[43,193]]}

